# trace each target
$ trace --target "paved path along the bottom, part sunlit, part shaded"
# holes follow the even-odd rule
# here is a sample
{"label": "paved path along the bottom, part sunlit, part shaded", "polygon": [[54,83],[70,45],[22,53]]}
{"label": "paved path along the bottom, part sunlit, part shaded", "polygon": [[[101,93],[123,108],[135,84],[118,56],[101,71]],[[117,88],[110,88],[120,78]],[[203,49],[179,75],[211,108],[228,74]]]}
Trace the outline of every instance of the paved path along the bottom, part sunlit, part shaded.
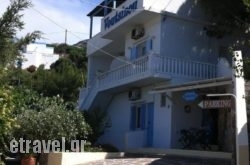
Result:
{"label": "paved path along the bottom, part sunlit, part shaded", "polygon": [[117,158],[87,163],[88,165],[230,165],[230,161],[201,158]]}

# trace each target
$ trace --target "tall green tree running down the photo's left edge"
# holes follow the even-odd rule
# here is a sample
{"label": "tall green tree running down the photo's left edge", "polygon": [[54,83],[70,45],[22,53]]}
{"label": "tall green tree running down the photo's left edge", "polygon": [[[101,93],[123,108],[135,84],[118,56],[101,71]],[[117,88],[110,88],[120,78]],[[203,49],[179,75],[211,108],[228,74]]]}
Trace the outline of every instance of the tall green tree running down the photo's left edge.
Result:
{"label": "tall green tree running down the photo's left edge", "polygon": [[24,26],[21,20],[23,15],[20,12],[30,6],[29,0],[11,0],[0,17],[0,152],[9,145],[5,142],[10,137],[11,130],[17,127],[14,116],[16,108],[14,88],[9,84],[10,69],[7,67],[14,65],[23,44],[40,37],[40,32],[36,31],[27,34],[19,41],[15,39],[17,31],[22,30]]}

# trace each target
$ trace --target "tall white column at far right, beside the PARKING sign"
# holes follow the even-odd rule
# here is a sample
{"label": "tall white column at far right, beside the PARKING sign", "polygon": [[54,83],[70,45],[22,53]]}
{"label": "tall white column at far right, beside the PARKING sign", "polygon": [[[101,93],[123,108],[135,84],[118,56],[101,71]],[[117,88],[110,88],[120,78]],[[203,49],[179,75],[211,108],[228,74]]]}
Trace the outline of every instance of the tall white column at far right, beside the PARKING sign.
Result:
{"label": "tall white column at far right, beside the PARKING sign", "polygon": [[249,165],[245,80],[241,51],[234,52],[232,73],[236,96],[236,161],[237,165]]}

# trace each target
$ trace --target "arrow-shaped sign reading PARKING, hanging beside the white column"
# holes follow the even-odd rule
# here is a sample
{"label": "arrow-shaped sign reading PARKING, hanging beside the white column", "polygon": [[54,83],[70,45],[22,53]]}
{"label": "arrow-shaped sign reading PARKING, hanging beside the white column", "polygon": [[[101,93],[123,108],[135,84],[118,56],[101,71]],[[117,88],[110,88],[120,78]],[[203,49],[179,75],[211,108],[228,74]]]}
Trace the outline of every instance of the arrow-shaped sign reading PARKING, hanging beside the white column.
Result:
{"label": "arrow-shaped sign reading PARKING, hanging beside the white column", "polygon": [[199,107],[203,109],[215,109],[215,108],[231,108],[231,100],[203,100],[199,104]]}

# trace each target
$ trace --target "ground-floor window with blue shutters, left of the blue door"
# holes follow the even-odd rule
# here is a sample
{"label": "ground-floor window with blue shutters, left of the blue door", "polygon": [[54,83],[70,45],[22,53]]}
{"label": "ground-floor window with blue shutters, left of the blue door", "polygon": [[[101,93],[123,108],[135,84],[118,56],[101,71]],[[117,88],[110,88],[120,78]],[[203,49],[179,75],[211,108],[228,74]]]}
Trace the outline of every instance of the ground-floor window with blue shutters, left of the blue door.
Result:
{"label": "ground-floor window with blue shutters, left of the blue door", "polygon": [[130,129],[144,130],[146,124],[146,104],[131,107]]}

